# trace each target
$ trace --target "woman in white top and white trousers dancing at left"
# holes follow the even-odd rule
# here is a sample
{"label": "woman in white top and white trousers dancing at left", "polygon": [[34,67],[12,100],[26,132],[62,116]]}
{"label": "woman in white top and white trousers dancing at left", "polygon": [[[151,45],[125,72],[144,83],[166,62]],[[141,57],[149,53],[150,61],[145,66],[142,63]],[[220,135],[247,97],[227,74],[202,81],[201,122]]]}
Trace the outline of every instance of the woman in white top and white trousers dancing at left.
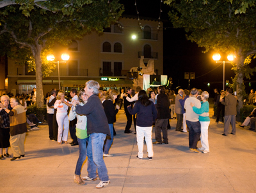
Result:
{"label": "woman in white top and white trousers dancing at left", "polygon": [[54,108],[57,109],[56,120],[58,122],[58,144],[68,144],[68,106],[72,104],[65,99],[65,92],[60,90],[54,103]]}

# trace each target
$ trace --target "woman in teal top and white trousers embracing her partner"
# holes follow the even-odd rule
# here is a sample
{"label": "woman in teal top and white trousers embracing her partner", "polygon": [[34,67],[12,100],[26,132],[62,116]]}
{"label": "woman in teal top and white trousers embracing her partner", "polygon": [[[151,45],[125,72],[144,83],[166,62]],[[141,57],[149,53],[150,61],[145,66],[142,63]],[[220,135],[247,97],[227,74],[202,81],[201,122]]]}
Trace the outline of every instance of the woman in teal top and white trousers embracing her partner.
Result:
{"label": "woman in teal top and white trousers embracing her partner", "polygon": [[190,105],[193,108],[193,111],[195,111],[196,114],[199,115],[199,121],[201,124],[201,143],[202,147],[198,148],[199,150],[203,150],[204,154],[207,154],[210,152],[209,149],[209,142],[208,142],[208,128],[210,125],[210,118],[209,116],[207,117],[202,117],[200,114],[202,113],[209,113],[209,103],[208,103],[208,98],[209,98],[209,93],[204,91],[202,93],[202,102],[201,102],[201,108],[196,108],[195,104],[191,103]]}

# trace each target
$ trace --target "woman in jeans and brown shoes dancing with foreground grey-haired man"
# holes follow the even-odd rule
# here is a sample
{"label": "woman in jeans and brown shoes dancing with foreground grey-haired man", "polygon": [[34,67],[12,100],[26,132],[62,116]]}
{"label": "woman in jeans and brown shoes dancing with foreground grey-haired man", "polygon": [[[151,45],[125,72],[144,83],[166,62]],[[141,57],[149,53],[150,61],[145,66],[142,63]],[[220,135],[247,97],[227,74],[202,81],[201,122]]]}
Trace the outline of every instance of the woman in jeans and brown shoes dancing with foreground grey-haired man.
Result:
{"label": "woman in jeans and brown shoes dancing with foreground grey-haired man", "polygon": [[[78,94],[78,100],[79,100],[79,105],[83,106],[85,103],[87,103],[88,96],[85,94],[84,89],[80,90]],[[81,169],[83,166],[83,162],[86,159],[86,148],[87,148],[87,143],[88,143],[88,136],[87,136],[87,129],[86,129],[86,123],[87,123],[87,118],[86,115],[77,115],[76,114],[76,107],[72,106],[70,110],[70,114],[68,115],[68,118],[70,120],[74,119],[77,117],[77,124],[76,124],[76,136],[77,136],[77,141],[79,144],[79,157],[76,163],[76,171],[75,171],[75,176],[74,176],[74,182],[77,183],[78,185],[84,185],[85,183],[81,179]]]}

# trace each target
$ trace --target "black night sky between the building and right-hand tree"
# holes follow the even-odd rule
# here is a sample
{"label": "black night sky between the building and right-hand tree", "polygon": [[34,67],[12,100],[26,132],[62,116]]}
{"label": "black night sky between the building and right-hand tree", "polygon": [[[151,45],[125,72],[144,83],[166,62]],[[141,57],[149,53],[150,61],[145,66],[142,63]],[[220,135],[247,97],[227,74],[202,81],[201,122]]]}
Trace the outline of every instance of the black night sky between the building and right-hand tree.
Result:
{"label": "black night sky between the building and right-hand tree", "polygon": [[[135,1],[122,0],[120,3],[125,6],[125,15],[137,15]],[[150,1],[150,3],[146,0],[136,0],[136,4],[140,17],[159,18],[160,0]],[[163,68],[164,75],[173,78],[173,90],[177,92],[175,88],[178,86],[182,89],[188,89],[188,80],[184,79],[185,72],[195,72],[195,80],[191,80],[190,89],[196,87],[197,89],[207,90],[210,95],[213,94],[215,88],[221,90],[223,88],[223,64],[216,64],[212,60],[213,50],[203,54],[204,48],[199,48],[196,43],[188,41],[184,29],[174,29],[168,19],[170,7],[164,3],[161,5],[161,10],[163,10],[161,20],[164,23],[164,29],[161,29],[164,34]],[[253,61],[252,66],[254,64],[255,61]],[[219,67],[216,68],[217,66]],[[234,71],[231,68],[231,64],[225,64],[225,80],[230,82],[230,77],[234,77]],[[209,73],[209,71],[211,72]],[[255,81],[255,78],[252,77],[250,81]],[[245,80],[247,92],[250,90],[248,82]],[[210,87],[207,86],[207,83],[210,83]],[[256,83],[252,83],[252,88],[256,89]]]}

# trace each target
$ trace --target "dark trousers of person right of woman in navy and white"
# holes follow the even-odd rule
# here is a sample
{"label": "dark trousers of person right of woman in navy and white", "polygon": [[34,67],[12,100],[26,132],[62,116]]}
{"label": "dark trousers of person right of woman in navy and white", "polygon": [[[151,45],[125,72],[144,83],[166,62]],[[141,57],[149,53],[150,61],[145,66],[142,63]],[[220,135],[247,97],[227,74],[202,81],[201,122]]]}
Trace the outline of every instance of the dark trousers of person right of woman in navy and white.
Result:
{"label": "dark trousers of person right of woman in navy and white", "polygon": [[162,143],[161,131],[163,132],[164,143],[168,143],[168,132],[167,132],[167,124],[169,118],[157,119],[155,125],[155,137],[156,141]]}

